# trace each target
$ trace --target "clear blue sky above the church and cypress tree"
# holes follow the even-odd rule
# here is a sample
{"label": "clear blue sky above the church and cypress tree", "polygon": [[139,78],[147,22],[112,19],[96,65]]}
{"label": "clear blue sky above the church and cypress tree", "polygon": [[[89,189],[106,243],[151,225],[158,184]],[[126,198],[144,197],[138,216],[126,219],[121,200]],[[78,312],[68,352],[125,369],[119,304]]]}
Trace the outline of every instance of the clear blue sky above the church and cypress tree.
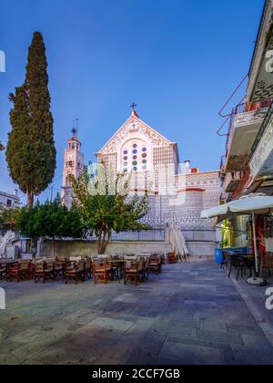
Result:
{"label": "clear blue sky above the church and cypress tree", "polygon": [[[138,104],[141,119],[177,141],[181,160],[216,170],[225,153],[217,115],[247,74],[264,0],[14,0],[2,2],[0,140],[10,130],[9,92],[25,78],[35,30],[47,49],[57,169],[73,119],[86,162]],[[243,90],[234,102],[242,98]],[[0,190],[15,186],[0,153]],[[49,197],[46,190],[42,199]]]}

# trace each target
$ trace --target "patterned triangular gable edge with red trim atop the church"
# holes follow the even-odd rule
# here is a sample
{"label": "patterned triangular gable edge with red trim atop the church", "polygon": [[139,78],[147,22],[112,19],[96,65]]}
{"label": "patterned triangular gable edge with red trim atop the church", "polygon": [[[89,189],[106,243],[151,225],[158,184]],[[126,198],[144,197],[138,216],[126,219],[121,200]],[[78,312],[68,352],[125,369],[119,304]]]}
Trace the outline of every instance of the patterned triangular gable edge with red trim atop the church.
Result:
{"label": "patterned triangular gable edge with red trim atop the church", "polygon": [[[111,146],[111,143],[114,142],[115,140],[117,140],[117,139],[119,138],[119,136],[122,135],[122,133],[126,130],[126,128],[127,128],[128,126],[131,125],[131,126],[133,127],[134,123],[136,123],[136,122],[138,122],[142,127],[143,127],[143,126],[146,127],[146,130],[149,131],[149,133],[151,134],[151,136],[153,136],[154,138],[157,137],[157,140],[158,140],[158,141],[161,141],[162,144],[165,144],[165,145],[173,145],[173,146],[175,147],[175,149],[177,150],[177,143],[176,143],[176,142],[172,142],[172,141],[170,141],[170,140],[167,140],[167,138],[164,137],[161,133],[159,133],[156,129],[153,129],[153,128],[151,128],[149,125],[147,125],[146,122],[144,122],[142,119],[140,119],[140,118],[138,117],[138,114],[137,114],[136,110],[133,109],[133,110],[132,110],[132,113],[131,113],[131,116],[129,117],[129,119],[127,119],[126,122],[125,122],[125,123],[124,123],[124,124],[117,130],[117,131],[116,131],[116,133],[114,134],[114,136],[113,136],[110,140],[108,140],[108,141],[106,142],[106,144],[104,145],[104,147],[103,147],[101,150],[97,151],[96,155],[97,155],[97,154],[101,154],[101,153],[103,153],[104,151],[107,151],[107,152],[108,152],[107,148],[108,148],[109,146]],[[137,131],[137,129],[138,129],[138,128],[137,128],[137,126],[136,126],[136,131]],[[131,130],[131,131],[132,131],[132,130]],[[128,133],[128,134],[129,134],[129,133]],[[177,150],[177,152],[178,152],[178,150]]]}

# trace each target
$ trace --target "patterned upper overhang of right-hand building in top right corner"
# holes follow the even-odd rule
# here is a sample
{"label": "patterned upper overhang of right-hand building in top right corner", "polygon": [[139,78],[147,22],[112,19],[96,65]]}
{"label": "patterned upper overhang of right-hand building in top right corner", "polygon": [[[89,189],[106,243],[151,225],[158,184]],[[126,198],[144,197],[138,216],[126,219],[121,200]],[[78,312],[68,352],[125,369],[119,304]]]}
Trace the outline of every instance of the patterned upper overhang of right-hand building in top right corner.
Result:
{"label": "patterned upper overhang of right-hand building in top right corner", "polygon": [[273,98],[273,0],[267,0],[249,71],[248,102]]}

